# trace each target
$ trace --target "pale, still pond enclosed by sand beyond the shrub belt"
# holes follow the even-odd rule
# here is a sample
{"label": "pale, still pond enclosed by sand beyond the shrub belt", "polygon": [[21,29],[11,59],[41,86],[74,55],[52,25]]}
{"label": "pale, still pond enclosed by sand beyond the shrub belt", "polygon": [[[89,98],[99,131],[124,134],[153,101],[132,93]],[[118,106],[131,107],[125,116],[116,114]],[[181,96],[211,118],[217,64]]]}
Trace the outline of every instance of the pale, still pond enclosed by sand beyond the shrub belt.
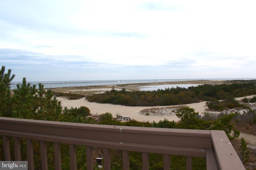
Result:
{"label": "pale, still pond enclosed by sand beyond the shrub belt", "polygon": [[164,90],[166,88],[176,88],[181,87],[181,88],[188,88],[190,86],[198,86],[200,84],[163,84],[163,85],[151,85],[151,86],[141,86],[139,87],[140,90],[143,91],[153,91],[153,90]]}

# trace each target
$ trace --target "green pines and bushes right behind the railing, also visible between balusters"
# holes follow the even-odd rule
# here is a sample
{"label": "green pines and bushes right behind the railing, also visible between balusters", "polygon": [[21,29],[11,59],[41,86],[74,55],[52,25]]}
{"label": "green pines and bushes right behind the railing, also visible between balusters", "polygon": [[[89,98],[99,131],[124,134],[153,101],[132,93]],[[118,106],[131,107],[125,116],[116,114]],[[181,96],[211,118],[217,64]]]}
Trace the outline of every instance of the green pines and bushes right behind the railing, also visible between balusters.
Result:
{"label": "green pines and bushes right behind the railing, also visible between balusters", "polygon": [[[244,114],[238,113],[225,114],[222,113],[218,117],[214,117],[209,114],[205,114],[202,118],[198,116],[198,112],[189,107],[183,107],[177,116],[180,118],[180,122],[174,121],[159,121],[154,123],[140,122],[136,120],[121,122],[112,117],[111,113],[104,113],[98,117],[88,117],[90,110],[87,107],[79,108],[62,108],[61,103],[56,100],[51,90],[44,90],[44,86],[39,84],[39,88],[31,86],[26,82],[26,78],[23,78],[22,84],[17,85],[17,89],[11,92],[10,82],[14,78],[11,76],[11,70],[5,72],[5,67],[2,66],[0,70],[0,116],[2,117],[17,117],[24,119],[40,119],[50,121],[67,121],[78,123],[98,123],[105,125],[123,125],[123,126],[138,126],[138,127],[160,127],[160,128],[180,128],[180,129],[214,129],[224,130],[230,140],[239,136],[239,131],[234,129],[232,121],[237,123],[250,122],[251,125],[256,124],[255,110],[249,110]],[[246,86],[246,85],[244,85]],[[202,86],[204,87],[204,86]],[[202,88],[201,87],[201,88]],[[211,87],[211,86],[210,86]],[[245,88],[246,89],[246,88]],[[176,94],[185,95],[186,89],[172,88],[167,90],[158,90],[164,95],[164,91],[176,91]],[[239,91],[239,90],[238,90]],[[246,90],[245,90],[246,91]],[[184,92],[184,94],[183,94]],[[107,94],[117,93],[115,90],[108,92]],[[122,90],[121,94],[126,94],[126,90]],[[154,92],[152,92],[154,93]],[[188,92],[188,94],[191,92]],[[245,92],[244,92],[245,93]],[[196,94],[196,92],[195,92]],[[159,93],[158,93],[159,95]],[[235,94],[234,94],[235,96]],[[145,97],[145,96],[144,96]],[[192,98],[192,97],[191,97]],[[148,99],[149,101],[149,99]],[[234,132],[232,133],[232,130]],[[4,158],[2,150],[2,137],[0,137],[0,157]],[[10,145],[13,146],[14,140],[10,139]],[[35,169],[41,168],[40,162],[40,143],[33,141],[34,147],[34,160]],[[54,146],[53,143],[47,143],[48,148],[48,164],[49,169],[54,169]],[[239,156],[243,158],[244,162],[248,161],[248,150],[244,141],[241,141],[241,154]],[[63,144],[61,146],[62,156],[62,168],[70,169],[69,166],[69,153],[68,145]],[[11,147],[13,153],[13,147]],[[26,160],[26,141],[21,141],[22,160]],[[77,165],[78,169],[85,169],[86,164],[86,147],[77,146]],[[102,155],[102,149],[94,149],[94,154]],[[132,170],[142,169],[142,155],[139,152],[130,152],[130,168]],[[14,154],[12,154],[13,156]],[[13,158],[12,158],[13,159]],[[171,156],[171,169],[185,169],[186,157],[185,156]],[[150,154],[150,170],[163,169],[163,156],[160,154]],[[119,170],[122,167],[122,152],[119,150],[111,150],[111,165],[113,170]],[[204,158],[193,157],[194,169],[206,169],[206,160]]]}

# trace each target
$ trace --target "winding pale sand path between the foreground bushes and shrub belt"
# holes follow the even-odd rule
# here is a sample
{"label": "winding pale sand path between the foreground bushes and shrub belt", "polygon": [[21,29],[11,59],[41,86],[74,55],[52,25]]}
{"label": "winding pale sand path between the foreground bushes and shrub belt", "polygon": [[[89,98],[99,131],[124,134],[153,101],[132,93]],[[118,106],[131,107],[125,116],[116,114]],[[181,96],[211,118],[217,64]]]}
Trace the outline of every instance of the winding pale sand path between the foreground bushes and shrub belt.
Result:
{"label": "winding pale sand path between the foreground bushes and shrub belt", "polygon": [[[247,98],[252,98],[252,96],[246,96]],[[244,98],[244,97],[242,97]],[[242,98],[236,98],[236,100],[241,100]],[[99,104],[95,102],[88,102],[85,100],[85,98],[81,98],[78,100],[67,100],[64,98],[57,97],[59,101],[61,101],[63,107],[81,107],[86,106],[90,109],[92,115],[100,115],[102,113],[109,112],[113,115],[113,117],[116,117],[116,115],[120,115],[123,117],[130,117],[131,119],[135,119],[137,121],[160,121],[164,119],[168,119],[169,121],[178,121],[178,117],[176,115],[162,115],[162,116],[154,116],[154,115],[144,115],[141,114],[140,111],[143,109],[150,109],[150,108],[162,108],[162,107],[168,107],[168,106],[154,106],[154,107],[134,107],[134,106],[121,106],[121,105],[112,105],[112,104]],[[193,103],[193,104],[186,104],[186,105],[176,105],[176,106],[188,106],[193,109],[195,109],[196,112],[199,112],[199,114],[204,113],[207,106],[205,105],[206,102],[200,102],[200,103]],[[175,107],[175,106],[172,106]]]}

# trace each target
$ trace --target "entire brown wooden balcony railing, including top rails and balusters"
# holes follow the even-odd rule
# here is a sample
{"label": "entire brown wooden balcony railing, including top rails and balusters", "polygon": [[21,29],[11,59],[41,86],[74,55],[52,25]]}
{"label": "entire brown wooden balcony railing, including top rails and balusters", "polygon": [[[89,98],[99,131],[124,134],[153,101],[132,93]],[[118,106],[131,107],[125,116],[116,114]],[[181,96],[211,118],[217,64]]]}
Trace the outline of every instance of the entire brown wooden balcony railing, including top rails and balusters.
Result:
{"label": "entire brown wooden balcony railing, including top rails and balusters", "polygon": [[9,137],[14,137],[15,160],[21,159],[20,139],[27,141],[28,168],[34,169],[32,140],[40,141],[42,169],[48,169],[46,142],[54,142],[55,169],[61,170],[60,144],[69,145],[70,167],[76,170],[76,145],[86,146],[86,165],[93,169],[92,147],[103,148],[104,170],[110,170],[110,149],[122,150],[123,170],[129,170],[129,151],[142,152],[142,169],[148,170],[149,153],[164,155],[164,170],[170,155],[205,157],[207,170],[243,170],[244,166],[224,131],[163,129],[94,125],[0,117],[4,159],[10,160]]}

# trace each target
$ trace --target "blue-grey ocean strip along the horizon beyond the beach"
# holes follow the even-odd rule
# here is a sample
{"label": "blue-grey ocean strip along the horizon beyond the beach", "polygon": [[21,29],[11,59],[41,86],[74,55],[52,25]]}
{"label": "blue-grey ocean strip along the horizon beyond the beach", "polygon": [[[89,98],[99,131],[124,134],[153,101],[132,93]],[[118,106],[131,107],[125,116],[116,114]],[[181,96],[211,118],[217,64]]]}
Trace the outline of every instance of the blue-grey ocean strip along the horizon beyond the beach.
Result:
{"label": "blue-grey ocean strip along the horizon beyond the beach", "polygon": [[[48,81],[48,82],[42,81],[42,82],[28,82],[28,83],[30,83],[31,85],[36,84],[36,88],[38,88],[38,83],[42,83],[44,84],[44,88],[48,89],[48,88],[59,88],[59,87],[140,84],[140,83],[152,83],[152,82],[175,82],[175,81],[189,81],[189,80],[202,80],[202,79],[89,80],[89,81],[84,80],[84,81]],[[203,79],[203,80],[250,80],[250,79],[241,78],[241,79]],[[16,85],[21,83],[22,82],[12,82],[11,90],[16,89]],[[176,86],[177,85],[175,85],[174,87]],[[154,90],[157,90],[157,89],[154,89]]]}

